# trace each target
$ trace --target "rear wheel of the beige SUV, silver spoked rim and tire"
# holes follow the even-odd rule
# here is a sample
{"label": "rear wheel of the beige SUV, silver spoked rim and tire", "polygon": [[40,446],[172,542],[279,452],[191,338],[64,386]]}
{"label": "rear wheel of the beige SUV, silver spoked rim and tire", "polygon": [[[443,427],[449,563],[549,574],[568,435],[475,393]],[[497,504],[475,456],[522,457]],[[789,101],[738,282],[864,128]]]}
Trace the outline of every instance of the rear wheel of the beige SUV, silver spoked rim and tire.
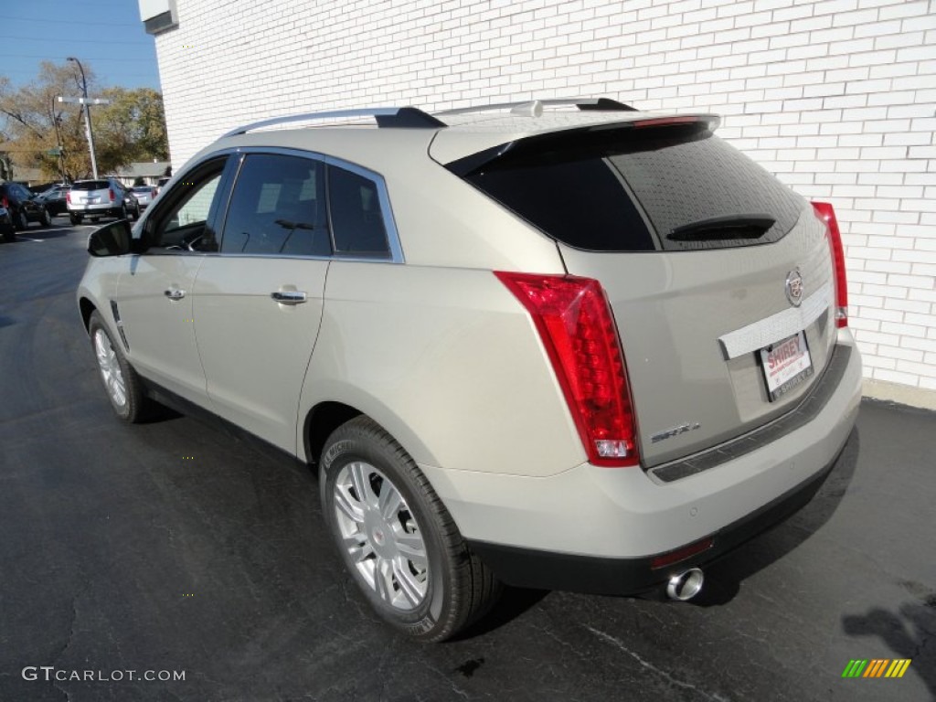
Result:
{"label": "rear wheel of the beige SUV, silver spoked rim and tire", "polygon": [[490,609],[500,583],[416,462],[373,419],[355,417],[332,432],[320,473],[322,514],[344,565],[384,620],[435,642]]}

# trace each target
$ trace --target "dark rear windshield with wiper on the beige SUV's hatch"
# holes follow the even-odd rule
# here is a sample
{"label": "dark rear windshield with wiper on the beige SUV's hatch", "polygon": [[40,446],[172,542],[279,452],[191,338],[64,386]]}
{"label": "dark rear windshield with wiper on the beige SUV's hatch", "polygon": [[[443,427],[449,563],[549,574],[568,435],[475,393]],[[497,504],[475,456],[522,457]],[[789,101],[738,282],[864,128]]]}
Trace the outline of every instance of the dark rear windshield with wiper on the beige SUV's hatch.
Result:
{"label": "dark rear windshield with wiper on the beige SUV's hatch", "polygon": [[589,251],[778,241],[805,206],[699,125],[525,139],[464,177],[553,239]]}

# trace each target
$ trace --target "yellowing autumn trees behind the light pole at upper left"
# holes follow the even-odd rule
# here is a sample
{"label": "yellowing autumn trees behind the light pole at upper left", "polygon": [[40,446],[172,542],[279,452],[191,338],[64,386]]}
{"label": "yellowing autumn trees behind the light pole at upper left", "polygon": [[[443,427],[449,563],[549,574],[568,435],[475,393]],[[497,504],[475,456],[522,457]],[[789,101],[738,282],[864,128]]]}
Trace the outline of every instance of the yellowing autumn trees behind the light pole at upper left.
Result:
{"label": "yellowing autumn trees behind the light pole at upper left", "polygon": [[[94,70],[84,65],[88,94],[111,100],[92,106],[98,171],[110,173],[132,161],[168,159],[162,95],[150,88],[102,89]],[[80,105],[56,101],[58,95],[81,95],[81,78],[73,64],[43,62],[35,80],[14,87],[0,76],[0,154],[16,168],[41,168],[50,179],[89,177],[91,159]],[[51,154],[61,140],[64,157]],[[64,170],[64,173],[62,172]],[[8,177],[8,176],[7,176]]]}

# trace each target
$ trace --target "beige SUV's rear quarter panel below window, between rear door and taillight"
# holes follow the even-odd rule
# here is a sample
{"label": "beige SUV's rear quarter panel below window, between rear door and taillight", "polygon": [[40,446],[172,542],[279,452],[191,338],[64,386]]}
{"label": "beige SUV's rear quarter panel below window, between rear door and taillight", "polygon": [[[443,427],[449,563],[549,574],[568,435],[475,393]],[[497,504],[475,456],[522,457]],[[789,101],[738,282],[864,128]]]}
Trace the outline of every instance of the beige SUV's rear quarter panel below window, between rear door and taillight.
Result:
{"label": "beige SUV's rear quarter panel below window, between rear door and taillight", "polygon": [[334,261],[300,417],[325,401],[423,464],[554,475],[585,460],[532,321],[490,271]]}

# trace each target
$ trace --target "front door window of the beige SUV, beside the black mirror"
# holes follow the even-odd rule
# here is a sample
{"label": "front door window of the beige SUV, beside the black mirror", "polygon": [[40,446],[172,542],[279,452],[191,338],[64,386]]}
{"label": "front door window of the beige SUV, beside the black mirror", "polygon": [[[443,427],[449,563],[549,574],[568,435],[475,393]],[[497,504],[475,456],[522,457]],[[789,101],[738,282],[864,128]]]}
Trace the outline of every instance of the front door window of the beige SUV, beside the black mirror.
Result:
{"label": "front door window of the beige SUV, beside the black mirror", "polygon": [[167,193],[164,206],[147,223],[150,248],[217,251],[208,222],[226,162],[227,157],[219,158],[198,168]]}

